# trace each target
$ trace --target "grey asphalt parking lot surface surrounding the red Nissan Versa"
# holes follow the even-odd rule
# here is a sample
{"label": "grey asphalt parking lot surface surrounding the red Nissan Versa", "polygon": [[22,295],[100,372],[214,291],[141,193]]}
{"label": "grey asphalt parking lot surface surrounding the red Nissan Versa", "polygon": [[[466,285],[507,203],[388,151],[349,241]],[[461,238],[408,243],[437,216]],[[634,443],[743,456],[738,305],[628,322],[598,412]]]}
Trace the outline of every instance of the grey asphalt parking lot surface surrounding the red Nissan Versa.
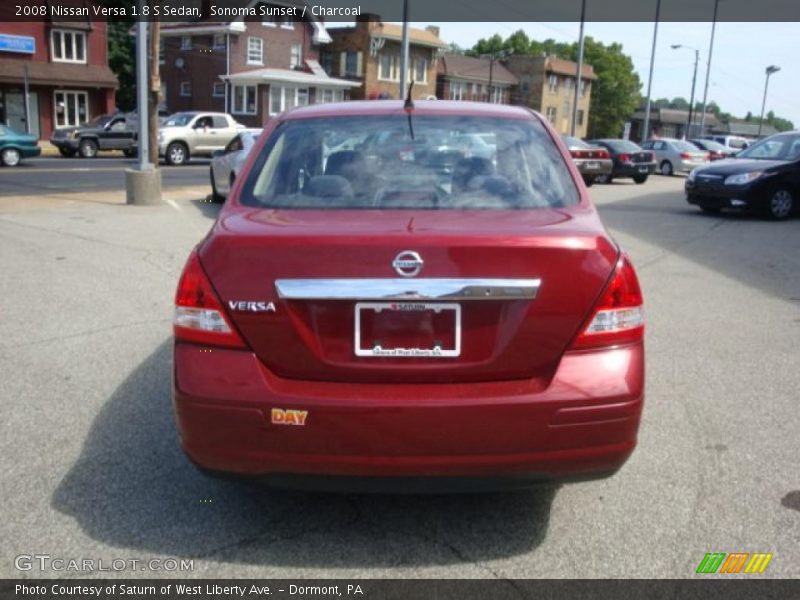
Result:
{"label": "grey asphalt parking lot surface surrounding the red Nissan Versa", "polygon": [[[5,172],[3,172],[3,177]],[[0,198],[0,576],[15,557],[188,558],[125,577],[692,577],[707,552],[800,576],[800,219],[709,217],[681,178],[591,188],[647,311],[639,447],[610,479],[362,496],[209,480],[171,406],[177,278],[207,187]]]}

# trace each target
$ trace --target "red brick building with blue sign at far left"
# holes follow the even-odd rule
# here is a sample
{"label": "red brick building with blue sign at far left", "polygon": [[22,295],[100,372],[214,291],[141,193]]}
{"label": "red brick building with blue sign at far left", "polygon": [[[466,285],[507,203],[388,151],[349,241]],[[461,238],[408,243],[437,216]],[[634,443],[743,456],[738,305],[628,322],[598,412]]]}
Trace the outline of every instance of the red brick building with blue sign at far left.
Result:
{"label": "red brick building with blue sign at far left", "polygon": [[107,43],[106,22],[95,17],[0,22],[0,123],[47,139],[113,112],[118,82]]}

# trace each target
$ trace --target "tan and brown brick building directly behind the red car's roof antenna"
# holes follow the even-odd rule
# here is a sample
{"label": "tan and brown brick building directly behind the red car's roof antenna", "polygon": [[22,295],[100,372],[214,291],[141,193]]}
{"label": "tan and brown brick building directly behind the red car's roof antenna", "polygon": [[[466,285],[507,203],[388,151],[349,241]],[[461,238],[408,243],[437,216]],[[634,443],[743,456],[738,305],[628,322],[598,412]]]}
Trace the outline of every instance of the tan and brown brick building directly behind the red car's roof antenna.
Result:
{"label": "tan and brown brick building directly behind the red car's roof antenna", "polygon": [[[403,28],[382,23],[380,17],[357,17],[354,27],[331,28],[333,42],[322,51],[320,62],[329,75],[356,82],[353,99],[400,96],[400,55]],[[414,81],[415,99],[436,95],[436,64],[447,44],[439,28],[409,27],[408,77]]]}

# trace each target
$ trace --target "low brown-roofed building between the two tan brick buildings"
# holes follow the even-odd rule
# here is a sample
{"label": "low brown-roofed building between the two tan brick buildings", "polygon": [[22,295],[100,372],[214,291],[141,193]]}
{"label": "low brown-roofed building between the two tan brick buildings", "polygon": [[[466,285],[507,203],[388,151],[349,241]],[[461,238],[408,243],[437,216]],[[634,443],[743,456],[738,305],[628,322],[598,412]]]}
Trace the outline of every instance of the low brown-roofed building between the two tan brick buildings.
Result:
{"label": "low brown-roofed building between the two tan brick buildings", "polygon": [[436,96],[442,100],[472,100],[510,104],[517,76],[497,60],[444,54],[439,60]]}

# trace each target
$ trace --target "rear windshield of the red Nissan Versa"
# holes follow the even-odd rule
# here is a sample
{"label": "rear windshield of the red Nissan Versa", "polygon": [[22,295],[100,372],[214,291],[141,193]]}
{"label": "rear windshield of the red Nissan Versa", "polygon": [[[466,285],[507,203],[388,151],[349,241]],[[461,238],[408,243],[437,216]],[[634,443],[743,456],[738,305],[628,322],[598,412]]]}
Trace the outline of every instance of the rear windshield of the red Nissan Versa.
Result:
{"label": "rear windshield of the red Nissan Versa", "polygon": [[[465,136],[495,143],[463,144]],[[402,113],[282,123],[240,197],[284,209],[532,209],[578,200],[538,121]]]}

